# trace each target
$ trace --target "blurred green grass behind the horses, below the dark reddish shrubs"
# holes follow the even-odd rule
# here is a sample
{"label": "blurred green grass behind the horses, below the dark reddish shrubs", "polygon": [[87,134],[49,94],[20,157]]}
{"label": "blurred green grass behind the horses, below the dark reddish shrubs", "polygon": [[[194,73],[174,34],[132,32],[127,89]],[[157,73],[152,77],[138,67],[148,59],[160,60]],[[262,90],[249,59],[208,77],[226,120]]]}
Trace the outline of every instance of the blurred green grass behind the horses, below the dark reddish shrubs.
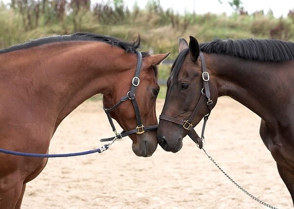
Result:
{"label": "blurred green grass behind the horses, below the dark reddish shrubs", "polygon": [[[294,41],[294,12],[289,13],[286,18],[274,18],[271,14],[262,13],[243,16],[211,13],[177,15],[171,10],[162,10],[160,5],[154,4],[150,8],[139,9],[138,13],[130,11],[127,18],[120,18],[118,11],[114,11],[113,15],[120,20],[118,24],[107,22],[107,18],[99,21],[93,11],[86,11],[78,15],[78,31],[105,34],[124,40],[136,40],[140,33],[141,51],[152,48],[156,54],[171,52],[169,60],[174,60],[178,54],[179,38],[189,40],[190,35],[195,36],[199,43],[216,38],[276,38]],[[125,14],[126,12],[123,15]],[[52,17],[49,23],[46,22],[48,15]],[[4,6],[0,0],[0,48],[23,43],[29,39],[76,32],[73,27],[75,17],[71,12],[66,13],[63,20],[58,20],[52,14],[41,14],[39,26],[30,30],[25,30],[25,18],[26,16],[22,16],[17,10]],[[159,66],[159,98],[165,97],[165,81],[170,70],[171,65]],[[92,99],[100,98],[101,96]]]}

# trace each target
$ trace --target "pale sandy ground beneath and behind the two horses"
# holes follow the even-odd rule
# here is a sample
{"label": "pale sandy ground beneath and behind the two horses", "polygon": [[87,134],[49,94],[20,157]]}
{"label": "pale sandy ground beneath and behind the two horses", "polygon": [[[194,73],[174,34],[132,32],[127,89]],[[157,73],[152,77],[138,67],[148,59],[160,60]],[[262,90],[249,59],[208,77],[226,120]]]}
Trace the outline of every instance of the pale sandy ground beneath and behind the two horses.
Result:
{"label": "pale sandy ground beneath and behind the two horses", "polygon": [[[157,102],[159,115],[164,101]],[[87,101],[54,135],[49,153],[98,148],[112,136],[100,101]],[[206,151],[241,186],[277,208],[292,208],[270,152],[259,136],[260,118],[221,97],[206,128]],[[202,125],[202,124],[201,124]],[[200,124],[197,126],[200,132]],[[150,158],[135,156],[131,139],[102,154],[49,159],[26,186],[23,209],[234,209],[265,208],[234,186],[196,147],[184,139],[180,152],[160,146]]]}

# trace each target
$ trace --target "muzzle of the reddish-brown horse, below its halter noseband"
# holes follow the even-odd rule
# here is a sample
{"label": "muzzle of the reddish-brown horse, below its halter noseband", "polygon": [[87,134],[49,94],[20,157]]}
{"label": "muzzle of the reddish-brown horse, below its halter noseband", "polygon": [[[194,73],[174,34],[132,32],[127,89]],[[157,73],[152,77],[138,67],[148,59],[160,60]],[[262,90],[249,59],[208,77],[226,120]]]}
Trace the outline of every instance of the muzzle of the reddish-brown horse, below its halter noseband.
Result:
{"label": "muzzle of the reddish-brown horse, below its halter noseband", "polygon": [[157,147],[156,135],[137,137],[136,143],[133,142],[133,152],[139,157],[150,157],[155,152]]}

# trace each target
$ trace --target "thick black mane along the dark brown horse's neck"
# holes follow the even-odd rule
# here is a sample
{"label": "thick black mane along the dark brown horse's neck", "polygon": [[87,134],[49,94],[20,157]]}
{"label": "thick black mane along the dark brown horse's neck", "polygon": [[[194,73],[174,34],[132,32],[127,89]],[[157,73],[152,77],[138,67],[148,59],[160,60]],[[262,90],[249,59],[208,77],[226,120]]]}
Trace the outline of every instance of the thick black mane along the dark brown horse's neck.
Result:
{"label": "thick black mane along the dark brown horse's neck", "polygon": [[199,44],[205,53],[224,54],[257,61],[294,59],[294,43],[275,39],[225,39]]}

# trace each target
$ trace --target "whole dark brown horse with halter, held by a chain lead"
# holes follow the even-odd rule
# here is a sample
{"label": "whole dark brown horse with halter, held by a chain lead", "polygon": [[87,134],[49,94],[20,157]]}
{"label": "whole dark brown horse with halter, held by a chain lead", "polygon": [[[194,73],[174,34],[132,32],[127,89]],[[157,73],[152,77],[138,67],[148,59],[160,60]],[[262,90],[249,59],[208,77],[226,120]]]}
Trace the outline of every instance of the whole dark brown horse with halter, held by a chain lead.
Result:
{"label": "whole dark brown horse with halter, held by a chain lead", "polygon": [[261,117],[260,136],[294,201],[294,43],[180,39],[167,85],[157,129],[164,150],[179,151],[187,134],[201,148],[194,127],[230,96]]}

